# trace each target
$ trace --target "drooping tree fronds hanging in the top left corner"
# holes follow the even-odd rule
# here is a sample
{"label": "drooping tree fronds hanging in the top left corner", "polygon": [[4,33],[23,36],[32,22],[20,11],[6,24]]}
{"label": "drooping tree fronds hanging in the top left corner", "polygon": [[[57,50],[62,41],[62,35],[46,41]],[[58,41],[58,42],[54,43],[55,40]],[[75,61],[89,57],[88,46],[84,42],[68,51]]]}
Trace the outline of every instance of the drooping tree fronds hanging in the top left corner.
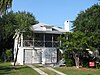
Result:
{"label": "drooping tree fronds hanging in the top left corner", "polygon": [[7,10],[12,7],[13,0],[0,0],[0,15],[7,13]]}

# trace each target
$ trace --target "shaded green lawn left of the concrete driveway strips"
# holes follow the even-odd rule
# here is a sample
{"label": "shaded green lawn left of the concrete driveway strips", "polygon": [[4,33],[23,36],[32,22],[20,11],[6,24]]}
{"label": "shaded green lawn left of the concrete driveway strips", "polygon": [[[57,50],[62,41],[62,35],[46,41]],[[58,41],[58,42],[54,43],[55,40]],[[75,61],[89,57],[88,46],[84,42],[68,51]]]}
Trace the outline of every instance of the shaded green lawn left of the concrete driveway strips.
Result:
{"label": "shaded green lawn left of the concrete driveway strips", "polygon": [[10,63],[0,63],[0,75],[39,75],[27,66],[11,66]]}

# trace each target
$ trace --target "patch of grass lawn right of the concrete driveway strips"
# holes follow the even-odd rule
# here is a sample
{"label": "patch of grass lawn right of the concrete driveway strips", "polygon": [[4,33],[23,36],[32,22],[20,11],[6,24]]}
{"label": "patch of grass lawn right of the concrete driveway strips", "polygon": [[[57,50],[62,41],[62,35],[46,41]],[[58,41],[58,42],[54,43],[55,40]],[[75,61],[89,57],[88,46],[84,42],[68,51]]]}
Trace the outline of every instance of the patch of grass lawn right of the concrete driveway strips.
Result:
{"label": "patch of grass lawn right of the concrete driveway strips", "polygon": [[100,75],[100,69],[93,68],[56,67],[55,69],[67,75]]}

